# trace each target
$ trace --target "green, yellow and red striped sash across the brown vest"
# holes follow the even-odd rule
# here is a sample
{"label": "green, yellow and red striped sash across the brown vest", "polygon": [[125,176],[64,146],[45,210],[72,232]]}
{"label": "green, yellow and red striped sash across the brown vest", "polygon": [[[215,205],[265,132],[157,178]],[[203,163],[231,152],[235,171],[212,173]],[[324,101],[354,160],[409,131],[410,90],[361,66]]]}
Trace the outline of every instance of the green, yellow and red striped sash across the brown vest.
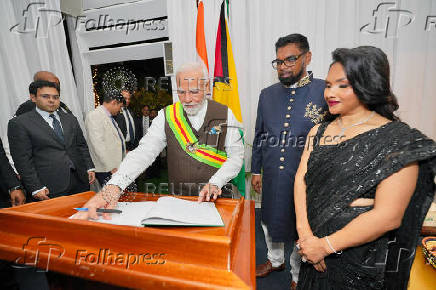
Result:
{"label": "green, yellow and red striped sash across the brown vest", "polygon": [[167,106],[165,115],[174,136],[189,156],[215,168],[220,168],[227,160],[226,152],[209,145],[198,144],[197,137],[183,115],[183,106],[180,102]]}

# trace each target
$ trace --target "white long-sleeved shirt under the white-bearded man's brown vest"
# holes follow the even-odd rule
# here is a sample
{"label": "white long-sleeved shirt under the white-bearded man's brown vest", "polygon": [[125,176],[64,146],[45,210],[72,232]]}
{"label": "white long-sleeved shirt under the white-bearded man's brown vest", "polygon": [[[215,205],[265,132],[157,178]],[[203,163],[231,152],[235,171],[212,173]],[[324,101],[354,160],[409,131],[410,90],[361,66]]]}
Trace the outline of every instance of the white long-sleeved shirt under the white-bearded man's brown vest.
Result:
{"label": "white long-sleeved shirt under the white-bearded man's brown vest", "polygon": [[[206,111],[207,101],[196,115],[188,115],[189,121],[195,130],[200,129],[203,125]],[[236,120],[236,117],[230,109],[228,109],[227,112],[227,126],[227,134],[224,143],[227,160],[209,179],[209,183],[219,188],[223,187],[227,182],[238,175],[244,159],[244,144],[239,133],[239,128],[242,129],[242,125]],[[153,163],[166,145],[165,113],[163,110],[160,110],[157,117],[154,118],[147,134],[142,137],[139,142],[139,146],[126,155],[118,171],[112,176],[108,184],[117,185],[124,190]],[[171,160],[169,160],[169,166],[171,166]]]}

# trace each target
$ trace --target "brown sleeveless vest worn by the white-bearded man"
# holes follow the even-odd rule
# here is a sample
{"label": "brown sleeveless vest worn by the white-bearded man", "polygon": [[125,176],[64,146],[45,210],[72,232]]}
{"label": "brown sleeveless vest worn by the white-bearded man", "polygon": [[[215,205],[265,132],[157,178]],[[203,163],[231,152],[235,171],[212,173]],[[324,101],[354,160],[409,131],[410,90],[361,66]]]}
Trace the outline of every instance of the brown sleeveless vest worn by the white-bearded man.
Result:
{"label": "brown sleeveless vest worn by the white-bearded man", "polygon": [[[197,136],[198,144],[211,145],[218,150],[225,151],[227,111],[228,108],[226,106],[208,100],[206,116],[204,117],[203,125],[198,131],[191,126],[185,111],[183,111],[183,114],[192,132]],[[209,134],[212,127],[222,123],[226,124],[221,126],[220,134]],[[168,146],[168,191],[173,194],[198,195],[201,188],[217,172],[218,168],[197,161],[189,156],[180,146],[166,118],[165,134]]]}

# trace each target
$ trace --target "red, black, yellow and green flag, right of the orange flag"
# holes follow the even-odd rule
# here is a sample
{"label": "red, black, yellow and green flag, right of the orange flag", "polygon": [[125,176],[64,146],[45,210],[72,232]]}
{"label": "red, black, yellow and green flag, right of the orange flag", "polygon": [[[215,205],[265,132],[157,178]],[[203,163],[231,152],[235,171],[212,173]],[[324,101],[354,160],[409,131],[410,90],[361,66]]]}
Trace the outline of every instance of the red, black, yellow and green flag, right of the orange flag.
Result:
{"label": "red, black, yellow and green flag, right of the orange flag", "polygon": [[[230,41],[224,10],[224,2],[227,1],[228,0],[223,0],[221,4],[221,13],[216,36],[213,99],[229,107],[236,119],[242,123],[241,105],[239,103],[238,94],[238,78],[236,77],[232,42]],[[239,133],[241,134],[242,140],[244,140],[244,133],[241,129],[239,129]],[[245,196],[245,162],[238,176],[232,180],[232,183],[238,188],[241,195]]]}

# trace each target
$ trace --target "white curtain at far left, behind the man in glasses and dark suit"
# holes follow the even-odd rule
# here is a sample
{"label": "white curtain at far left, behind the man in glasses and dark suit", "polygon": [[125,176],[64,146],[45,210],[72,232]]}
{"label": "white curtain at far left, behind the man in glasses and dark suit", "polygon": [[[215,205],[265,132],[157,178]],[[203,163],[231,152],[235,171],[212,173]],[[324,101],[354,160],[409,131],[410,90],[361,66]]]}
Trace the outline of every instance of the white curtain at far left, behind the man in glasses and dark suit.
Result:
{"label": "white curtain at far left, behind the man in glasses and dark suit", "polygon": [[29,99],[29,84],[33,74],[40,70],[58,76],[61,100],[83,124],[59,3],[59,0],[0,1],[0,132],[4,143],[8,121],[18,106]]}

